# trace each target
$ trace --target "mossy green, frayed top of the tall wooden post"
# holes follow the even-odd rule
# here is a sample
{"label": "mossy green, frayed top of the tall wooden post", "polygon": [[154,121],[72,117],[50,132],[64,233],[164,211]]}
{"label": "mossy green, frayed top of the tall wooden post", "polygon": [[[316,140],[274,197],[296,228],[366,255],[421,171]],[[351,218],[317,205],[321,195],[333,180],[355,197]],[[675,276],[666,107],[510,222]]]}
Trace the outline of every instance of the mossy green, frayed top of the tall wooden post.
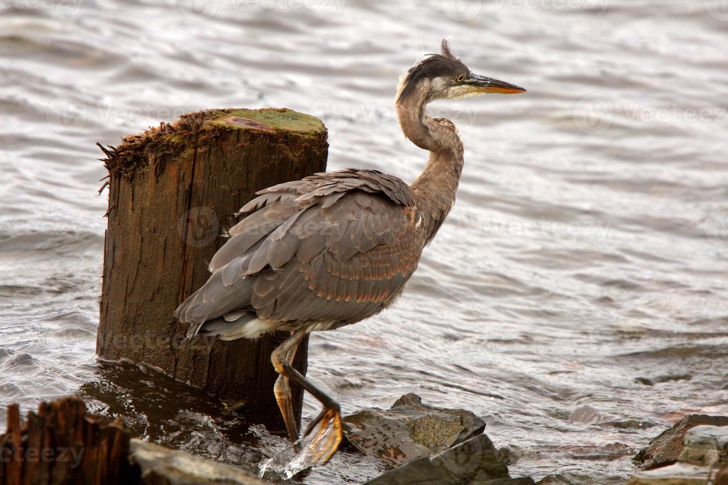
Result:
{"label": "mossy green, frayed top of the tall wooden post", "polygon": [[260,134],[322,138],[326,128],[320,119],[285,108],[218,109],[196,111],[174,123],[162,123],[145,132],[129,135],[116,147],[102,148],[103,160],[112,175],[131,174],[149,165],[154,157],[178,156],[194,150],[199,137],[219,129],[239,129]]}

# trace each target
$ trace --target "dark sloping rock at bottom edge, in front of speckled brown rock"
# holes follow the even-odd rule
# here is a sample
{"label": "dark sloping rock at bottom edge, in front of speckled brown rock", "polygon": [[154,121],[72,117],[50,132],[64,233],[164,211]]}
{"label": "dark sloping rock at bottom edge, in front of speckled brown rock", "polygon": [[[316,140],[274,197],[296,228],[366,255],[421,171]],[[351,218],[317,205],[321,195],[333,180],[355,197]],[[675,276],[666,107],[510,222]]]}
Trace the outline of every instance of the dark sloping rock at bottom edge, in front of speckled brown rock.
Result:
{"label": "dark sloping rock at bottom edge, in front of speckled brown rock", "polygon": [[512,478],[499,453],[484,434],[474,436],[432,457],[406,465],[368,481],[365,485],[531,485],[531,478]]}

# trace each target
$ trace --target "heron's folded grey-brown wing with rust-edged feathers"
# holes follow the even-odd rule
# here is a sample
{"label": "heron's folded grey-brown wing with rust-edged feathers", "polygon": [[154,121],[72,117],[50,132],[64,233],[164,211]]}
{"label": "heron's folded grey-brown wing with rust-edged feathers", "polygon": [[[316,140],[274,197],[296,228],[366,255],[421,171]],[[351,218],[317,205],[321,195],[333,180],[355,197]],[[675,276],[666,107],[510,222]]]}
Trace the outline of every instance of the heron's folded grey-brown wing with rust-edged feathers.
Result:
{"label": "heron's folded grey-brown wing with rust-edged feathers", "polygon": [[175,316],[193,324],[192,334],[251,318],[365,318],[401,291],[419,262],[424,233],[415,212],[408,186],[376,171],[317,174],[260,191],[213,257],[213,275]]}

